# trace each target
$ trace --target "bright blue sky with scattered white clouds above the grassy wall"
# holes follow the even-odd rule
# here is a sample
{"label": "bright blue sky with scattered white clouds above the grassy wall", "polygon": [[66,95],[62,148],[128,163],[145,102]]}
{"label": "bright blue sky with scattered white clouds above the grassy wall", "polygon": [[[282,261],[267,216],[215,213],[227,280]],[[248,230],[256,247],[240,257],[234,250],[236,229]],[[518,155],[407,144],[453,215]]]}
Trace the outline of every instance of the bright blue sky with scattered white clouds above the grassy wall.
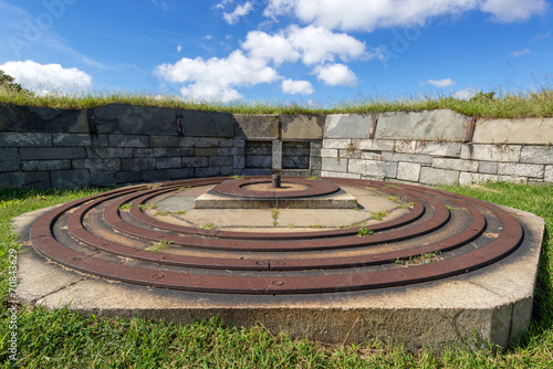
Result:
{"label": "bright blue sky with scattered white clouds above the grassy wall", "polygon": [[0,70],[36,93],[469,98],[553,85],[549,0],[0,0]]}

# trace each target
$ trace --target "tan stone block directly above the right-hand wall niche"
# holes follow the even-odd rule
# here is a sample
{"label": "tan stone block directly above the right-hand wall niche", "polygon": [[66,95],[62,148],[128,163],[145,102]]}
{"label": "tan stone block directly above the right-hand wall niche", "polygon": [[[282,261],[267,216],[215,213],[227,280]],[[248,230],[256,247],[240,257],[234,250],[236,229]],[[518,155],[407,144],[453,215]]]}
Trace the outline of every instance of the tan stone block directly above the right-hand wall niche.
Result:
{"label": "tan stone block directly above the right-hand wall niche", "polygon": [[282,139],[322,139],[324,117],[321,115],[281,114]]}

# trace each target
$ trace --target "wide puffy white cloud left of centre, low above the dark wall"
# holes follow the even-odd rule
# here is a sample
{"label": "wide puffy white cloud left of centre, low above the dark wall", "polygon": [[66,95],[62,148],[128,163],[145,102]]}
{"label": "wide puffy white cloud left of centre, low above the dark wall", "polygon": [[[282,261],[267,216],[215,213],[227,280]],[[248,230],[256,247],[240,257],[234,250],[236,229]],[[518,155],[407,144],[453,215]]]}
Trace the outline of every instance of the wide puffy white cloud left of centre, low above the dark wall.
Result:
{"label": "wide puffy white cloud left of centre, low above the dark wall", "polygon": [[182,57],[175,64],[158,65],[154,73],[167,82],[188,84],[181,88],[186,97],[221,102],[241,97],[234,87],[281,78],[265,61],[248,57],[239,50],[222,59]]}

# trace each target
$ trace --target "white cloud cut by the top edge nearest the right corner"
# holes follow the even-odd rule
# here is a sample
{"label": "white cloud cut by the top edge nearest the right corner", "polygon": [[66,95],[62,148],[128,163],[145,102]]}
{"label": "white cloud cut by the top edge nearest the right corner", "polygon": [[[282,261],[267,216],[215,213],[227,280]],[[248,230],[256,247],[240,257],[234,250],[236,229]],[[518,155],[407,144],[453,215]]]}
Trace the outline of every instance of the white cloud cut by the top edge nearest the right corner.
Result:
{"label": "white cloud cut by the top edge nearest the right corner", "polygon": [[484,0],[480,9],[491,13],[493,20],[502,23],[520,22],[547,8],[545,0]]}

